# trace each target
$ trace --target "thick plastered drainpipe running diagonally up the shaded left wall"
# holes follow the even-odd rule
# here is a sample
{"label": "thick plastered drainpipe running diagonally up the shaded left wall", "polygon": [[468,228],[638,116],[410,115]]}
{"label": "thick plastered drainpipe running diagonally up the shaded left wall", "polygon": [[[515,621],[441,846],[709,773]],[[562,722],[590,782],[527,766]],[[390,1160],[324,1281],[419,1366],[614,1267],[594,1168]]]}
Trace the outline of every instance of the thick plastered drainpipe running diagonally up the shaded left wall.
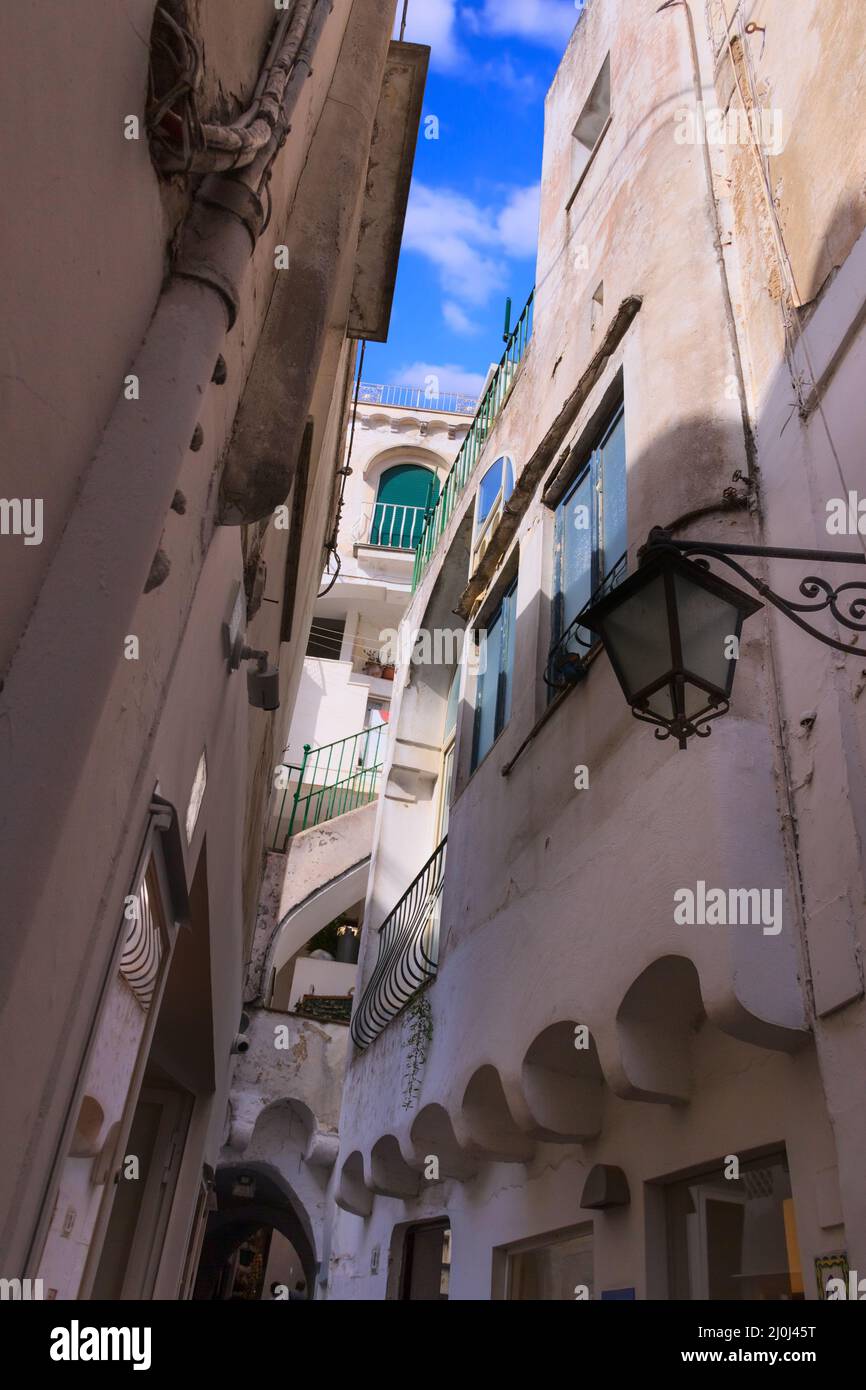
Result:
{"label": "thick plastered drainpipe running diagonally up the shaded left wall", "polygon": [[0,883],[6,899],[0,1006],[14,987],[18,948],[35,924],[202,400],[238,314],[263,225],[256,179],[285,139],[314,40],[331,8],[331,0],[316,0],[307,63],[286,83],[271,146],[240,178],[211,175],[202,183],[175,271],[126,368],[139,378],[140,399],[121,395],[108,418],[0,687]]}

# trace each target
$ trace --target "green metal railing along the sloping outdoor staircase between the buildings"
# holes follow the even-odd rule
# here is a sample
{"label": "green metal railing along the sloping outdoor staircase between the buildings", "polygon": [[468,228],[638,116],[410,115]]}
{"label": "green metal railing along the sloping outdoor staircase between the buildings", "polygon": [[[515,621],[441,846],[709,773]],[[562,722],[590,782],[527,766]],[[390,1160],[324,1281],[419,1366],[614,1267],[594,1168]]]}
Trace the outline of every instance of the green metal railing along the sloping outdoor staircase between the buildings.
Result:
{"label": "green metal railing along the sloping outdoor staircase between the buildings", "polygon": [[284,774],[278,784],[282,785],[282,801],[274,849],[285,852],[292,835],[373,801],[378,791],[386,733],[386,724],[377,724],[321,748],[304,744],[300,764],[279,764],[278,771]]}

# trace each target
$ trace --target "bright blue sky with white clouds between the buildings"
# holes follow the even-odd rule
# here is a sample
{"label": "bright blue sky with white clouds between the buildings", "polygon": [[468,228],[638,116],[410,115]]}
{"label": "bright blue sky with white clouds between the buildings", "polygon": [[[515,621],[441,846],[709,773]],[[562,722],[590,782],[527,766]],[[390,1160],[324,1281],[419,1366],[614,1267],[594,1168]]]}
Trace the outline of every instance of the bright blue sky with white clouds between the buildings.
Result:
{"label": "bright blue sky with white clouds between the buildings", "polygon": [[[544,99],[581,0],[409,0],[432,49],[388,343],[364,379],[474,393],[535,277]],[[402,13],[398,6],[398,22]]]}

